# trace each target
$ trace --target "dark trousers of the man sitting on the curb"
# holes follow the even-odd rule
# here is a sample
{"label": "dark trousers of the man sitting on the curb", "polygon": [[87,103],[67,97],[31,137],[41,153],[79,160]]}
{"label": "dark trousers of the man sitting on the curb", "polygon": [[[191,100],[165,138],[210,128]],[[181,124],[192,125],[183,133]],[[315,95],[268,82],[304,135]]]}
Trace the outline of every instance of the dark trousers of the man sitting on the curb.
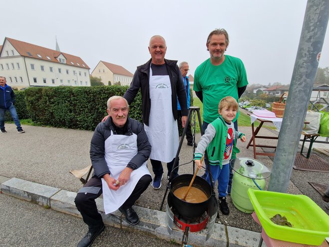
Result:
{"label": "dark trousers of the man sitting on the curb", "polygon": [[[148,188],[152,181],[150,175],[144,175],[137,183],[134,191],[126,202],[121,206],[123,208],[132,207],[136,200]],[[124,187],[122,188],[124,189]],[[102,195],[102,180],[92,177],[79,191],[74,200],[75,206],[82,215],[84,223],[93,231],[103,225],[102,216],[98,213],[95,200]]]}

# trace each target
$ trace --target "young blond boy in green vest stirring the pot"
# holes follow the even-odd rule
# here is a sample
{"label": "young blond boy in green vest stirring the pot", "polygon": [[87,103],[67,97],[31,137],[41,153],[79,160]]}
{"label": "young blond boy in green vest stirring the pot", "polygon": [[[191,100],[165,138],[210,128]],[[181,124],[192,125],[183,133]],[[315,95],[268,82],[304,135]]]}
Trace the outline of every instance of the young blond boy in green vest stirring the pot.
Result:
{"label": "young blond boy in green vest stirring the pot", "polygon": [[[210,173],[213,181],[218,181],[219,208],[223,215],[230,213],[226,203],[230,159],[232,152],[234,155],[240,152],[235,146],[235,138],[246,141],[245,135],[234,129],[232,120],[237,110],[238,102],[231,96],[224,97],[218,105],[219,117],[208,125],[194,153],[195,164],[201,168],[200,159],[207,149]],[[208,173],[206,181],[210,184]]]}

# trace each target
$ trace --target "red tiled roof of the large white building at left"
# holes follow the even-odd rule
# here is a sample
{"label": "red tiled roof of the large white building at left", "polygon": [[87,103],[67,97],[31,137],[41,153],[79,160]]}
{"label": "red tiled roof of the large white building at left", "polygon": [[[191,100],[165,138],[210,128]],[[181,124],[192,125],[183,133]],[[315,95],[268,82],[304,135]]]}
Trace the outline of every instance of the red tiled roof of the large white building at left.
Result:
{"label": "red tiled roof of the large white building at left", "polygon": [[[60,52],[60,51],[56,51],[56,50],[52,50],[52,49],[48,49],[48,48],[45,48],[42,46],[26,43],[23,41],[12,39],[12,38],[6,37],[4,39],[4,42],[5,42],[5,40],[8,40],[8,42],[17,50],[17,52],[21,56],[33,57],[35,59],[60,63],[56,59],[56,57],[58,57],[60,54],[63,54],[63,56],[66,58],[65,63],[67,65],[90,69],[89,66],[78,56],[74,56],[74,55],[71,55],[68,53],[64,53],[64,52]],[[3,44],[4,44],[4,42],[3,42]],[[31,55],[29,55],[27,52],[29,52]],[[39,57],[37,54],[39,54],[41,57]],[[48,59],[47,56],[50,59]],[[85,66],[83,66],[83,65],[85,65]]]}

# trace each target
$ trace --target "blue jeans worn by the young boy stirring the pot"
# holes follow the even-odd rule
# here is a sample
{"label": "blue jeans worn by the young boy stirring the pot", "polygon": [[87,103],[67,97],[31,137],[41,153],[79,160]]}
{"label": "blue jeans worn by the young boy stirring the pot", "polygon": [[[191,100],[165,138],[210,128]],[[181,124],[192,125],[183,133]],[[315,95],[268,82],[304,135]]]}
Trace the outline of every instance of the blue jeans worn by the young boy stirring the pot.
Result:
{"label": "blue jeans worn by the young boy stirring the pot", "polygon": [[[220,166],[210,166],[210,173],[213,176],[214,183],[216,180],[218,181],[219,197],[226,197],[226,190],[229,179],[229,167],[230,164],[223,165],[222,169],[220,169]],[[207,173],[206,181],[211,185],[209,173]]]}

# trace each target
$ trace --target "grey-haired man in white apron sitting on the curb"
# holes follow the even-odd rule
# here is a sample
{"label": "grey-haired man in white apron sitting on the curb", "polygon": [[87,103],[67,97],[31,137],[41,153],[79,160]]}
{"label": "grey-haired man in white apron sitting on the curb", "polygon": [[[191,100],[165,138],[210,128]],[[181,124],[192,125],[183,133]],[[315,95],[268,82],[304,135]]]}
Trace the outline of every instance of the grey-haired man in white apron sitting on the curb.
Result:
{"label": "grey-haired man in white apron sitting on the curb", "polygon": [[105,214],[119,209],[129,224],[139,223],[132,206],[152,181],[146,166],[151,145],[143,124],[129,118],[128,111],[126,99],[109,98],[110,117],[95,129],[90,144],[94,174],[75,198],[75,205],[89,229],[78,247],[90,246],[105,228],[95,203],[102,193]]}

